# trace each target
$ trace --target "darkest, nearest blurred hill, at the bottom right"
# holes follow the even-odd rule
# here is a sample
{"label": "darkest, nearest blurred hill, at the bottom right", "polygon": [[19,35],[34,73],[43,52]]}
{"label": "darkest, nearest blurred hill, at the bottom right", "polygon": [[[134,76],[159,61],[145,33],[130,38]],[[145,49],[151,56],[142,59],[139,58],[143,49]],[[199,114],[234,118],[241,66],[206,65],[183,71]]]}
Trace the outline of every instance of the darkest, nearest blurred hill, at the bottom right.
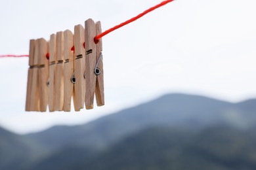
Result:
{"label": "darkest, nearest blurred hill, at the bottom right", "polygon": [[256,137],[230,127],[150,127],[74,169],[256,169]]}

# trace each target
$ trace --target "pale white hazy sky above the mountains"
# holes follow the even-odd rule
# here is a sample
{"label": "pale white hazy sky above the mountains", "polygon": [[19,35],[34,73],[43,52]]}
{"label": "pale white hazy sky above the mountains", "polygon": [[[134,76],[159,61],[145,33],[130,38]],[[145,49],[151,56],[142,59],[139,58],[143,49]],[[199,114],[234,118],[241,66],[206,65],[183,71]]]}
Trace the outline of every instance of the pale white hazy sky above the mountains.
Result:
{"label": "pale white hazy sky above the mountains", "polygon": [[[0,54],[28,54],[30,39],[84,24],[106,30],[161,0],[1,2]],[[256,97],[256,1],[177,0],[103,39],[106,105],[81,112],[24,112],[28,58],[0,60],[0,126],[28,133],[83,124],[164,93],[228,101]]]}

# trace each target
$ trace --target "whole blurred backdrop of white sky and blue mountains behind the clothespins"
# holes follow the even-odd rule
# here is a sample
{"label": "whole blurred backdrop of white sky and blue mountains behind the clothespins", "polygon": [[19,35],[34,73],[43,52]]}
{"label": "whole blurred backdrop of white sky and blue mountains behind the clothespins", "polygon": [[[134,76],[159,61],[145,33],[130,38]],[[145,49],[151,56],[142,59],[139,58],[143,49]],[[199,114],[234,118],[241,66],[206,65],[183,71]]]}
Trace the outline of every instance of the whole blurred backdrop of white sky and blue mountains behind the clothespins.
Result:
{"label": "whole blurred backdrop of white sky and blue mountains behind the clothespins", "polygon": [[[160,2],[2,1],[0,54]],[[255,7],[179,0],[106,35],[93,110],[25,112],[28,58],[2,58],[0,169],[256,169]]]}

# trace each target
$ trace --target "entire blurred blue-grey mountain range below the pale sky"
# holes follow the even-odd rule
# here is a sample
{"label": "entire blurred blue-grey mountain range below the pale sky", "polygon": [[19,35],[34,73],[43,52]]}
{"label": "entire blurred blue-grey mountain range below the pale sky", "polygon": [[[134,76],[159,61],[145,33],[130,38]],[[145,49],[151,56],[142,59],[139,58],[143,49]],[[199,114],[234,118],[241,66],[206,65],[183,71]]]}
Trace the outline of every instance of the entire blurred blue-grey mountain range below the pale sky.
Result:
{"label": "entire blurred blue-grey mountain range below the pale sky", "polygon": [[[180,160],[173,155],[176,152],[184,155],[173,167],[202,162],[202,167],[226,169],[237,159],[238,167],[252,169],[255,106],[256,99],[229,103],[175,93],[82,126],[55,126],[27,135],[0,129],[0,169],[122,169],[122,164],[127,169],[159,169],[161,161],[169,168],[167,160]],[[190,144],[191,148],[186,148]],[[225,149],[227,153],[221,152]],[[146,167],[140,168],[141,161]]]}

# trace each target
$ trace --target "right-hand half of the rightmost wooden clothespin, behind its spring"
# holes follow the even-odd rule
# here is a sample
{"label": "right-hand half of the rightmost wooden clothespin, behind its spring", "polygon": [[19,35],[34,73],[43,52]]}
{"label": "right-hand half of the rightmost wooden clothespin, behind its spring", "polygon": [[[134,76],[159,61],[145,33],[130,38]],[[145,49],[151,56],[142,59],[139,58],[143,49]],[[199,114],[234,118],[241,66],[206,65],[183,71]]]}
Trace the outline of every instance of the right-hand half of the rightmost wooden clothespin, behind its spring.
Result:
{"label": "right-hand half of the rightmost wooden clothespin, behind its spring", "polygon": [[[100,22],[96,22],[96,35],[101,33],[101,24]],[[102,39],[98,41],[96,44],[96,59],[98,61],[100,57],[100,53],[102,52]],[[96,76],[96,89],[95,89],[95,97],[97,106],[105,105],[104,100],[104,71],[103,71],[103,56],[101,56],[98,62],[98,68],[100,69],[100,75]]]}

